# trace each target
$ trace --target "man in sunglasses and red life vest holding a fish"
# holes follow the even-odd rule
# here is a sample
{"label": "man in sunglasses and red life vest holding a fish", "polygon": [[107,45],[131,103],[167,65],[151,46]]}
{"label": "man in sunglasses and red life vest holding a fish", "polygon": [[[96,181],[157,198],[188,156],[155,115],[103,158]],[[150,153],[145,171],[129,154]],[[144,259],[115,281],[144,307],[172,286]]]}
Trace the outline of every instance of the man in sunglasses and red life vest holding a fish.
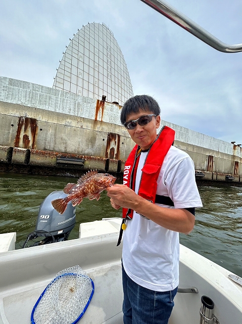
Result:
{"label": "man in sunglasses and red life vest holding a fish", "polygon": [[[188,154],[172,146],[174,131],[160,127],[160,107],[147,95],[128,99],[121,123],[136,143],[124,185],[107,188],[123,208],[124,324],[167,324],[177,292],[179,232],[188,234],[202,207]],[[121,238],[121,237],[120,237]]]}

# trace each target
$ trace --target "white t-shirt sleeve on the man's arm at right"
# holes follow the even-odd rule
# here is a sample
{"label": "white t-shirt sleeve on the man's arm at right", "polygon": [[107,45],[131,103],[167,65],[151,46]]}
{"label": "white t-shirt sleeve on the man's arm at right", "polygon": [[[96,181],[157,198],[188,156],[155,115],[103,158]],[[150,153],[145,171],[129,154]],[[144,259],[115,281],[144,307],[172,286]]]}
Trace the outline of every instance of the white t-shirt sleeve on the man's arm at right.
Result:
{"label": "white t-shirt sleeve on the man's arm at right", "polygon": [[178,161],[164,181],[175,208],[203,206],[195,180],[194,164],[189,156]]}

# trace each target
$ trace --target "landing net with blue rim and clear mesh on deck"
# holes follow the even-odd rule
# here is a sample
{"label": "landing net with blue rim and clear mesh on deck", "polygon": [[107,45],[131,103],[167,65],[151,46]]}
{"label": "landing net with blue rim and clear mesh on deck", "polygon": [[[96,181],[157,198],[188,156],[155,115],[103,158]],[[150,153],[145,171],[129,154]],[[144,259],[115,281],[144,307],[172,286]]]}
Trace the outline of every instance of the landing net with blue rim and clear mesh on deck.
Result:
{"label": "landing net with blue rim and clear mesh on deck", "polygon": [[58,272],[37,300],[31,324],[77,323],[93,292],[93,281],[79,265]]}

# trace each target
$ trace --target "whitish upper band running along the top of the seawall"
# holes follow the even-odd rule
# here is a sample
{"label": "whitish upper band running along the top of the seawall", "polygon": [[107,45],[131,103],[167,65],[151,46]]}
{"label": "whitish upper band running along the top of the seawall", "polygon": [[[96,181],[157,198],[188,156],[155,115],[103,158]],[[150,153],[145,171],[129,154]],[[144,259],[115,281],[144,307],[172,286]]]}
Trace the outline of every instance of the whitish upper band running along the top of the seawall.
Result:
{"label": "whitish upper band running along the top of the seawall", "polygon": [[[98,111],[97,114],[96,99],[3,76],[0,76],[0,101],[67,113],[84,118],[96,118],[107,123],[121,125],[119,119],[120,105],[105,103],[104,110]],[[161,120],[161,125],[167,125],[174,129],[177,141],[239,157],[242,156],[241,148],[231,143],[189,130],[165,120]]]}

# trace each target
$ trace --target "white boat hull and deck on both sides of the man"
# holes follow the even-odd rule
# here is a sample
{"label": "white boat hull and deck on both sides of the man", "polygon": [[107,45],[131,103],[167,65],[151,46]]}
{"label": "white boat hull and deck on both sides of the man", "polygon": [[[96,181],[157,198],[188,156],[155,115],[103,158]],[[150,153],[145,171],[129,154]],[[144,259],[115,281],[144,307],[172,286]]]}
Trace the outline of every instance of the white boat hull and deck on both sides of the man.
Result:
{"label": "white boat hull and deck on both sides of the man", "polygon": [[[0,253],[0,324],[29,324],[33,306],[55,275],[79,265],[92,278],[95,291],[80,322],[119,324],[122,320],[122,244],[117,247],[120,220],[80,226],[80,238]],[[104,233],[105,232],[105,233]],[[220,324],[242,323],[242,287],[231,273],[180,246],[179,288],[169,324],[200,323],[201,297],[210,297]]]}

